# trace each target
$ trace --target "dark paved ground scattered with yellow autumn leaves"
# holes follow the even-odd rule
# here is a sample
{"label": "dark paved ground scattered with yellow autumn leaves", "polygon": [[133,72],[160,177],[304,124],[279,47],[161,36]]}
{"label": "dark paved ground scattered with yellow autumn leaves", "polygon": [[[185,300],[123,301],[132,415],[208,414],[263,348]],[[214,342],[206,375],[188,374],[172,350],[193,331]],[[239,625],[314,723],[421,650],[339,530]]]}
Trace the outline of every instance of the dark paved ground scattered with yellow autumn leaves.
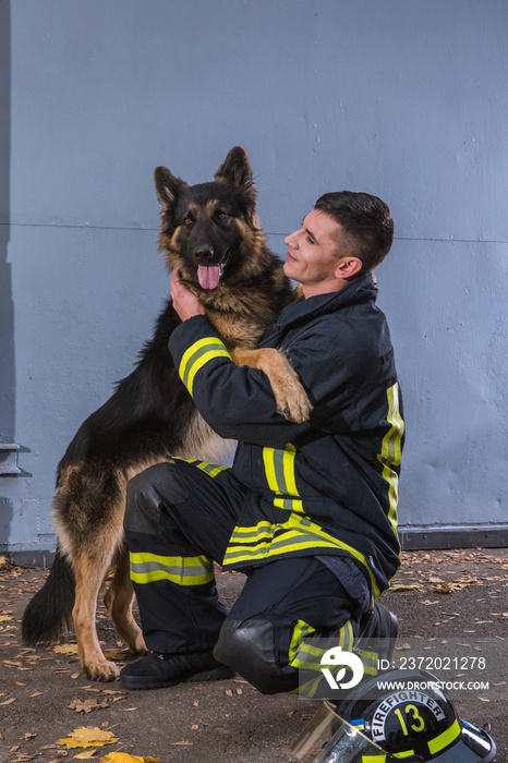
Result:
{"label": "dark paved ground scattered with yellow autumn leaves", "polygon": [[[66,647],[69,654],[61,651],[74,643],[73,633],[60,645],[24,649],[21,616],[46,574],[9,566],[0,570],[1,763],[100,761],[118,751],[165,763],[292,760],[289,747],[318,707],[316,701],[291,694],[263,697],[239,677],[128,692],[119,682],[94,683],[80,673],[72,645]],[[219,572],[218,585],[227,605],[242,583],[241,574]],[[421,638],[422,643],[460,639],[473,654],[484,654],[485,640],[495,639],[500,656],[495,665],[487,664],[484,674],[491,689],[471,691],[453,703],[467,720],[477,726],[491,723],[498,748],[496,761],[508,763],[508,549],[404,553],[394,588],[383,601],[399,617],[398,647],[402,652],[410,637]],[[118,650],[102,608],[98,622],[105,647]],[[126,655],[118,657],[125,659]],[[87,748],[59,743],[80,727],[107,731],[116,741]],[[94,741],[97,731],[89,734]]]}

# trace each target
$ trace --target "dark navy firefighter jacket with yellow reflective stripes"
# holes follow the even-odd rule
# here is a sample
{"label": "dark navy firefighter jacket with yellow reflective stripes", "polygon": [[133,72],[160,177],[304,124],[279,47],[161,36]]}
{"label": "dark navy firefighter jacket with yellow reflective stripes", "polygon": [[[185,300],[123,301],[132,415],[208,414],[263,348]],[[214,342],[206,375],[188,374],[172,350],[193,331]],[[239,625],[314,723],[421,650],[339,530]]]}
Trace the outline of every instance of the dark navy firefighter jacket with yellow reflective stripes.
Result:
{"label": "dark navy firefighter jacket with yellow reflective stripes", "polygon": [[301,424],[277,413],[267,376],[235,366],[204,316],[173,331],[169,348],[197,409],[238,440],[232,475],[246,498],[225,568],[338,555],[356,560],[374,597],[389,585],[400,564],[404,424],[376,291],[365,274],[339,292],[300,298],[261,342],[283,350],[307,391],[314,408]]}

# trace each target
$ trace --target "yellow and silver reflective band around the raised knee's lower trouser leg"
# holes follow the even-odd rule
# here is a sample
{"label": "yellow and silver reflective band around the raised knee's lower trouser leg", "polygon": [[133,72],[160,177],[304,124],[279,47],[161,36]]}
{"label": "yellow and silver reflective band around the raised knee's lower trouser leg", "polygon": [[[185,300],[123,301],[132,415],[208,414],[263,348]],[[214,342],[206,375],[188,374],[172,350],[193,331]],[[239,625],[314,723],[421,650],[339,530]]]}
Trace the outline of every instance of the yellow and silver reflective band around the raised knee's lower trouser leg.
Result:
{"label": "yellow and silver reflective band around the raised knee's lower trouser leg", "polygon": [[131,580],[146,584],[169,580],[177,585],[204,585],[214,580],[214,562],[207,556],[158,556],[131,553]]}

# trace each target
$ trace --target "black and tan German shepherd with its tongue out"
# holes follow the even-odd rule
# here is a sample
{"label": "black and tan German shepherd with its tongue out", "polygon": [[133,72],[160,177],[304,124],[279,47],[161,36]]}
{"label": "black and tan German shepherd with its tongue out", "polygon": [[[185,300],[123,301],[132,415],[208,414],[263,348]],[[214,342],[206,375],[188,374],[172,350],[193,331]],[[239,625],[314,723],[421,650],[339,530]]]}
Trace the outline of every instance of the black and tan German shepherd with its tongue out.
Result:
{"label": "black and tan German shepherd with its tongue out", "polygon": [[[161,205],[159,249],[169,269],[194,291],[238,365],[264,371],[278,410],[303,421],[311,405],[288,360],[257,343],[292,299],[282,263],[268,250],[256,217],[256,194],[243,148],[232,148],[215,180],[188,185],[167,168],[155,171]],[[59,463],[52,516],[57,554],[44,586],[29,602],[22,633],[35,645],[58,639],[71,614],[84,673],[109,681],[118,668],[97,639],[97,596],[110,570],[105,604],[120,639],[136,654],[146,646],[132,615],[133,589],[123,536],[128,482],[171,456],[225,458],[221,440],[198,414],[168,351],[179,325],[169,301],[135,370],[80,427]]]}

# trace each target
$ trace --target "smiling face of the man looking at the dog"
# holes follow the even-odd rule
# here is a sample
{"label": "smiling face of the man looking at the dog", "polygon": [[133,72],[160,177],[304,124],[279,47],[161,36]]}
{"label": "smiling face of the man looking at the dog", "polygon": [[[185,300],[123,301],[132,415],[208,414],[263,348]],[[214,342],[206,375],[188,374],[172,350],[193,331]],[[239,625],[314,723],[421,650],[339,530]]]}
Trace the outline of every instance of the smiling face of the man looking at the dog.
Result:
{"label": "smiling face of the man looking at the dog", "polygon": [[302,228],[286,237],[285,272],[303,286],[305,296],[337,291],[341,226],[320,209],[303,218]]}

